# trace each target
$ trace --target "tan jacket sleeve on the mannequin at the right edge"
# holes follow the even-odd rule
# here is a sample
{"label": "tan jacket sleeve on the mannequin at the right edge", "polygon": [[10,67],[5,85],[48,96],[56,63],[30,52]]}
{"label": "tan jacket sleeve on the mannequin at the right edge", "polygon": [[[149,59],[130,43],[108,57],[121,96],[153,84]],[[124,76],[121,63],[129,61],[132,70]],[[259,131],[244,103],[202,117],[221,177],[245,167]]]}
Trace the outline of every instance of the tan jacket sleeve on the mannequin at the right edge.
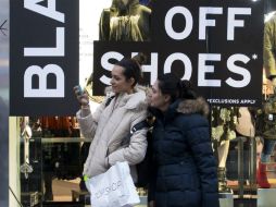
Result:
{"label": "tan jacket sleeve on the mannequin at the right edge", "polygon": [[264,68],[267,78],[276,77],[276,13],[264,26]]}

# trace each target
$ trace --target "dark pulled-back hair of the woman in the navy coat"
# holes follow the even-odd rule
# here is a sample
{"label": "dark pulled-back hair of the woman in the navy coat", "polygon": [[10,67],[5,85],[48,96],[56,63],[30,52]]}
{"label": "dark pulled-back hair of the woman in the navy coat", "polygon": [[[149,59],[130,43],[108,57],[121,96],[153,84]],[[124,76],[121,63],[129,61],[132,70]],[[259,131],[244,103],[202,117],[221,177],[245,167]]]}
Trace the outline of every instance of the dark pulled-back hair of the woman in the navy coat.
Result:
{"label": "dark pulled-back hair of the woman in the navy coat", "polygon": [[178,98],[196,99],[198,96],[192,89],[191,82],[180,80],[173,73],[166,73],[158,77],[159,88],[162,94],[171,96],[171,102]]}

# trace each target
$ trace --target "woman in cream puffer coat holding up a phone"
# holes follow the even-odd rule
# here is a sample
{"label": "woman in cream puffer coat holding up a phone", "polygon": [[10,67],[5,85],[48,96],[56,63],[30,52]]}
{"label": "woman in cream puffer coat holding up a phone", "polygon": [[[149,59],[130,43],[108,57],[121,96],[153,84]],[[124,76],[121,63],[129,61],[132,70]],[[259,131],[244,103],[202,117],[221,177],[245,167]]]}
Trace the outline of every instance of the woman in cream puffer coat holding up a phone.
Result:
{"label": "woman in cream puffer coat holding up a phone", "polygon": [[137,173],[133,166],[142,161],[147,149],[147,129],[136,131],[129,144],[122,145],[130,129],[147,118],[146,93],[135,87],[140,76],[140,65],[136,60],[123,59],[112,70],[111,102],[108,97],[93,114],[90,112],[87,94],[75,93],[81,109],[77,112],[80,132],[91,138],[89,155],[84,174],[88,178],[105,172],[116,161],[127,161],[136,182]]}

